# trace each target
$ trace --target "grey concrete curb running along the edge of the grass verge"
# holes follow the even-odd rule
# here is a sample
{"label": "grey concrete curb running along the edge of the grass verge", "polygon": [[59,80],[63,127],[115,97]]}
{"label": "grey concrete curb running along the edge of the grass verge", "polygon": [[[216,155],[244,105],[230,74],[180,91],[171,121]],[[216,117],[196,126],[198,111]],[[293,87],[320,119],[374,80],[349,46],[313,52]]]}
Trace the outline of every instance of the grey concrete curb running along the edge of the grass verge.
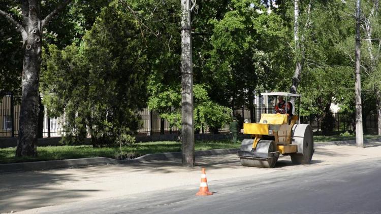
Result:
{"label": "grey concrete curb running along the edge of the grass verge", "polygon": [[[380,142],[381,139],[364,140],[368,142]],[[315,142],[315,147],[328,146],[328,145],[355,145],[356,140],[342,140],[331,142]],[[217,149],[217,150],[204,150],[196,151],[195,156],[210,156],[210,155],[228,155],[237,153],[239,149]],[[56,168],[69,168],[69,167],[85,167],[94,165],[107,165],[107,164],[130,164],[139,163],[151,160],[170,160],[181,158],[181,152],[167,152],[157,154],[146,154],[132,160],[116,160],[112,158],[79,158],[68,160],[52,160],[52,161],[36,161],[36,162],[23,162],[23,163],[5,163],[0,164],[0,173],[10,173],[18,171],[33,171],[33,170],[47,170]]]}

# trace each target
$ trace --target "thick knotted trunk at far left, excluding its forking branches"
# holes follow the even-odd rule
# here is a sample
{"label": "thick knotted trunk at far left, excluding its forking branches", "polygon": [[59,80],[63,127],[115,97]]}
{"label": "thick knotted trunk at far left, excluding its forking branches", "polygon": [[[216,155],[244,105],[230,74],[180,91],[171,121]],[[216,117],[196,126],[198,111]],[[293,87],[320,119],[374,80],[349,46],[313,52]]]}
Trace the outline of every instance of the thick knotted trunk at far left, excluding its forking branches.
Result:
{"label": "thick knotted trunk at far left, excluding its forking branches", "polygon": [[20,128],[16,156],[37,156],[37,134],[39,118],[39,75],[41,66],[41,24],[39,7],[29,5],[29,22],[24,41],[24,59],[21,77],[22,96]]}

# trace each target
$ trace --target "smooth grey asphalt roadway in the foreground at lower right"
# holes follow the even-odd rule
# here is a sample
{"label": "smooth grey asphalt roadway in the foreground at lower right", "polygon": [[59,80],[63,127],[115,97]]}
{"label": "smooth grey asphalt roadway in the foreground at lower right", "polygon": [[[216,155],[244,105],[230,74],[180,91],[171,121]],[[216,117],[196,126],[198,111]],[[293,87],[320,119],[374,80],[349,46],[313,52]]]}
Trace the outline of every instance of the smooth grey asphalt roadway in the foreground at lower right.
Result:
{"label": "smooth grey asphalt roadway in the foreground at lower right", "polygon": [[[249,168],[248,168],[249,170]],[[334,167],[284,170],[261,179],[53,206],[37,213],[381,213],[381,158]],[[147,184],[149,185],[149,184]]]}

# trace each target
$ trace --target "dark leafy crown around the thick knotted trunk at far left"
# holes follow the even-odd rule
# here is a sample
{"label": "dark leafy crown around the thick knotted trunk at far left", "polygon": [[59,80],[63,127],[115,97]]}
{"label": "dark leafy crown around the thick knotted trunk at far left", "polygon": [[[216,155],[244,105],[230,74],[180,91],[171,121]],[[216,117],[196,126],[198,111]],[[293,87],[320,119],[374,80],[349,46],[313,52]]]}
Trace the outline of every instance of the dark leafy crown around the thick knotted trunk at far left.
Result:
{"label": "dark leafy crown around the thick knotted trunk at far left", "polygon": [[[55,9],[59,1],[42,1],[43,16]],[[66,7],[61,15],[54,17],[43,32],[44,51],[48,51],[49,44],[59,48],[66,47],[73,42],[80,42],[86,30],[89,30],[100,10],[107,6],[106,0],[74,0],[72,7]],[[17,1],[2,0],[0,9],[10,12],[17,20],[21,20],[20,6]],[[21,71],[23,51],[21,36],[10,23],[0,16],[0,94],[5,92],[21,92]],[[43,61],[43,66],[45,62]]]}

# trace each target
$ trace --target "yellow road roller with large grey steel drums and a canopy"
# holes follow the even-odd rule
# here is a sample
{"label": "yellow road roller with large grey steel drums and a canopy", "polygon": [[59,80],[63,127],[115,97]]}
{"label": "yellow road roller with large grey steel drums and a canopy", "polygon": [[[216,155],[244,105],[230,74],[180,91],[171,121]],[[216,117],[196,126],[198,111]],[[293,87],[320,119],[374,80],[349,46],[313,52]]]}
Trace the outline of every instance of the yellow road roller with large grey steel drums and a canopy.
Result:
{"label": "yellow road roller with large grey steel drums and a canopy", "polygon": [[242,140],[238,151],[241,164],[273,168],[280,154],[290,155],[294,164],[310,163],[314,152],[312,128],[308,124],[300,124],[299,107],[298,114],[293,115],[295,109],[288,102],[288,98],[294,98],[300,106],[300,95],[287,92],[261,95],[266,98],[275,97],[275,104],[279,108],[272,114],[261,114],[259,123],[245,121],[243,133],[250,134],[251,139]]}

